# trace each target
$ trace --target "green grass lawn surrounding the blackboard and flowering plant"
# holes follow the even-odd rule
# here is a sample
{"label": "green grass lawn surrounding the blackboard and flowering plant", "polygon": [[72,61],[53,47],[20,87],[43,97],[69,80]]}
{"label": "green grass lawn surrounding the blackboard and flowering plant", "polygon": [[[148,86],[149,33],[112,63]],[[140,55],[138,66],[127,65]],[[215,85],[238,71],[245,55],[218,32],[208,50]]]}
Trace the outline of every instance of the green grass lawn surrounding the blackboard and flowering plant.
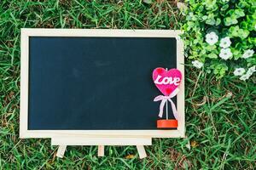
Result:
{"label": "green grass lawn surrounding the blackboard and flowering plant", "polygon": [[[108,3],[106,3],[108,2]],[[55,157],[49,139],[19,139],[20,28],[178,29],[172,1],[0,2],[0,169],[253,169],[256,89],[253,81],[216,80],[186,65],[188,139],[154,139],[140,160],[134,146],[69,146]],[[186,148],[190,141],[191,150]],[[128,158],[126,156],[130,156]]]}

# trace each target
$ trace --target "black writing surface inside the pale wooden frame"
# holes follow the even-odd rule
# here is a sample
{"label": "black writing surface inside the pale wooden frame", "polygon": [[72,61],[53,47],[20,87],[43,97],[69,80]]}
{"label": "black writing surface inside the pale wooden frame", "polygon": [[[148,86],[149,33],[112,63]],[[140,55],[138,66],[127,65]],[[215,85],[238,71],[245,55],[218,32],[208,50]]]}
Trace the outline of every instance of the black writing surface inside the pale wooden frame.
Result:
{"label": "black writing surface inside the pale wooden frame", "polygon": [[176,63],[175,37],[29,37],[28,130],[157,129],[152,71]]}

